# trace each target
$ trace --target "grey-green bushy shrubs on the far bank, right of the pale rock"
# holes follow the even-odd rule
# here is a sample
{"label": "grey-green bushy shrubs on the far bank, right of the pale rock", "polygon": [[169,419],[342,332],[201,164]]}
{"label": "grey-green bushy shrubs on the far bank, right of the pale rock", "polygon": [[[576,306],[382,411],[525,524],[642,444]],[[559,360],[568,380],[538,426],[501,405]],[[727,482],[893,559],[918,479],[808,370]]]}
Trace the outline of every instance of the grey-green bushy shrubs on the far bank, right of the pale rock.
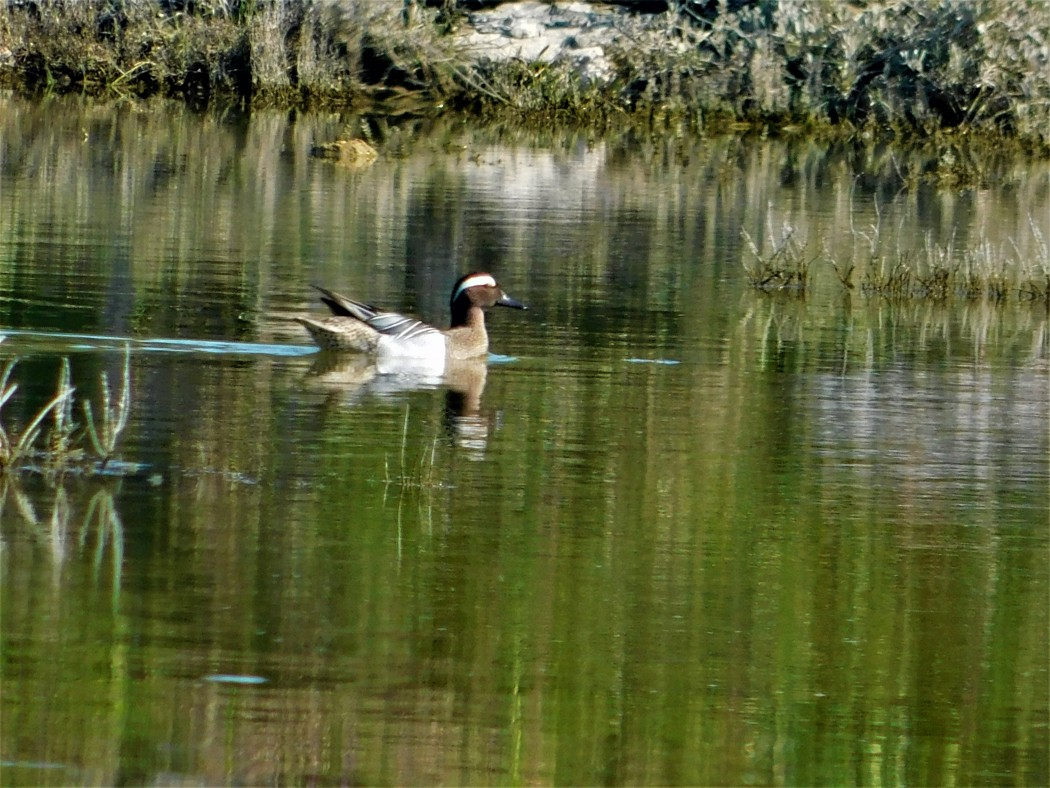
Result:
{"label": "grey-green bushy shrubs on the far bank, right of the pale rock", "polygon": [[[677,105],[701,122],[844,125],[919,140],[967,129],[1050,143],[1044,0],[673,7],[663,29],[621,42],[632,103]],[[946,179],[959,177],[956,162],[945,167]]]}

